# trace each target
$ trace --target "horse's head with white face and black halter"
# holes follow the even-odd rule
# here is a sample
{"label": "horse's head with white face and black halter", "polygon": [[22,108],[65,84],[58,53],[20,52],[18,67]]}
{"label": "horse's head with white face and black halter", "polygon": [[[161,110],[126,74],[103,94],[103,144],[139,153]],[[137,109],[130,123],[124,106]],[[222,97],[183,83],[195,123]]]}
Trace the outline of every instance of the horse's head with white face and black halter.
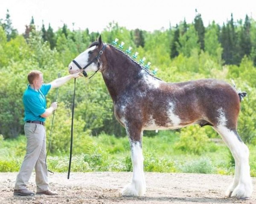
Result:
{"label": "horse's head with white face and black halter", "polygon": [[84,70],[83,74],[87,77],[85,71],[99,71],[102,67],[100,58],[107,45],[102,42],[101,36],[99,40],[93,42],[87,50],[79,54],[68,66],[70,74],[74,74],[78,70]]}

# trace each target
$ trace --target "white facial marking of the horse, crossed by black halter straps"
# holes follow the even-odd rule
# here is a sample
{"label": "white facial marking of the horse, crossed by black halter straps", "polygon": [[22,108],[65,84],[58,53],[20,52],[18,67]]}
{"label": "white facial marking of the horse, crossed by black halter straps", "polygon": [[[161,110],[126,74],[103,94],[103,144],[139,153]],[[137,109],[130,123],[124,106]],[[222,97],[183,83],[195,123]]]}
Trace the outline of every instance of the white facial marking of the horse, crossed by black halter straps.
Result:
{"label": "white facial marking of the horse, crossed by black halter straps", "polygon": [[[96,48],[96,46],[92,46],[91,48],[88,48],[86,51],[82,52],[75,58],[75,61],[83,68],[85,65],[89,63],[89,51],[93,51]],[[69,72],[70,74],[75,73],[79,68],[76,66],[74,62],[70,62],[69,64]],[[72,67],[72,69],[70,69]],[[93,62],[90,66],[88,66],[85,71],[97,71],[96,62]]]}

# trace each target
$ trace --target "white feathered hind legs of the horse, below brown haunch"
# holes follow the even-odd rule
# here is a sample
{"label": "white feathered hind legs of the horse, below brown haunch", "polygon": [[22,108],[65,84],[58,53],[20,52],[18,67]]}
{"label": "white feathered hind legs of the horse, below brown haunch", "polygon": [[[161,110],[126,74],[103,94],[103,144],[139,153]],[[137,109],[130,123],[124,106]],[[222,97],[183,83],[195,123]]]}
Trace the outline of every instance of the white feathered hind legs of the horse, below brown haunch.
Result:
{"label": "white feathered hind legs of the horse, below brown haunch", "polygon": [[225,124],[213,128],[221,135],[235,159],[235,176],[226,195],[236,198],[250,197],[253,186],[250,178],[248,147],[242,142],[236,129],[228,128]]}

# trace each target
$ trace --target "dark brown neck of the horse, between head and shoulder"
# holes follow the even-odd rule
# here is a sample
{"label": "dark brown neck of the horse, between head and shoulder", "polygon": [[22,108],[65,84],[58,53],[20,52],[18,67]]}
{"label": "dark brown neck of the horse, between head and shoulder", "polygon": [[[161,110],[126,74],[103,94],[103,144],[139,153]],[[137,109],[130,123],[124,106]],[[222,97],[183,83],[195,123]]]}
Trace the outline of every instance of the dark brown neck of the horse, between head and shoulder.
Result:
{"label": "dark brown neck of the horse, between head and shoulder", "polygon": [[138,80],[141,68],[121,51],[113,48],[111,52],[106,52],[106,58],[108,62],[102,76],[112,99],[115,100],[131,83]]}

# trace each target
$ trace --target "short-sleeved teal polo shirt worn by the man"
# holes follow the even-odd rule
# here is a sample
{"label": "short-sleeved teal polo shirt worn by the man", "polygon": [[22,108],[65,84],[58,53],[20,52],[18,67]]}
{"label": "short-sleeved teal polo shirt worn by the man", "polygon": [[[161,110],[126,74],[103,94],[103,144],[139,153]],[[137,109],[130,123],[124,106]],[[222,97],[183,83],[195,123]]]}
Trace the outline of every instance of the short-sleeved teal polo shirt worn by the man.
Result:
{"label": "short-sleeved teal polo shirt worn by the man", "polygon": [[38,91],[36,91],[28,85],[22,97],[25,109],[24,121],[45,121],[45,118],[41,117],[41,115],[47,107],[45,96],[50,88],[50,84],[42,84]]}

